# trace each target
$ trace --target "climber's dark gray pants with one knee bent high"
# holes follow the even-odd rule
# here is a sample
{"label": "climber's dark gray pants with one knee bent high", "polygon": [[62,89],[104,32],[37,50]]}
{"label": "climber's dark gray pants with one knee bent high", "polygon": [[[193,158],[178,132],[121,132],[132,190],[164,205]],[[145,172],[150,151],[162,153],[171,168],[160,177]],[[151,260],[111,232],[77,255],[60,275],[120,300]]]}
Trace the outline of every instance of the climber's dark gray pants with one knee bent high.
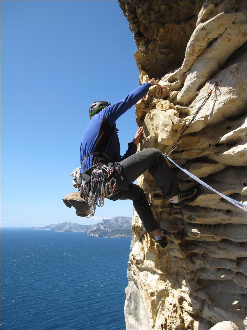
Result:
{"label": "climber's dark gray pants with one knee bent high", "polygon": [[[143,189],[132,182],[148,170],[166,198],[177,195],[178,182],[164,156],[160,150],[148,148],[122,160],[118,165],[121,175],[117,177],[116,193],[109,199],[114,201],[118,199],[132,200],[147,232],[158,229],[159,225],[152,214]],[[127,183],[124,189],[123,186],[121,187],[121,176]]]}

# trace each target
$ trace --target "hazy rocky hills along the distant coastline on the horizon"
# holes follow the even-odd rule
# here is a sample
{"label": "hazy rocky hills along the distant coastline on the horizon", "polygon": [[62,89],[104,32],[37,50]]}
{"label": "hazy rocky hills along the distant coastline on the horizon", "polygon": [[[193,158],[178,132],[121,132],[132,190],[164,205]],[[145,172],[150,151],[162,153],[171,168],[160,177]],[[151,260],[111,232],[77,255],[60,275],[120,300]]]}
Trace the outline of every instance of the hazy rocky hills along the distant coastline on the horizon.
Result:
{"label": "hazy rocky hills along the distant coastline on the horizon", "polygon": [[96,237],[131,237],[131,217],[116,216],[102,219],[95,225],[81,225],[79,223],[52,223],[44,227],[33,227],[36,230],[52,230],[56,232],[87,232],[88,236]]}

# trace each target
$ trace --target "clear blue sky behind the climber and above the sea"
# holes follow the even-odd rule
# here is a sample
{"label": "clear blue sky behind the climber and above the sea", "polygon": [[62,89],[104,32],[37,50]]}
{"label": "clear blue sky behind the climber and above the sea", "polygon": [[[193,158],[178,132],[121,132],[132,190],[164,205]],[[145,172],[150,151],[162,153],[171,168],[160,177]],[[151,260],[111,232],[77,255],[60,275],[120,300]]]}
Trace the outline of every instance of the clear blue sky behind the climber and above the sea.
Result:
{"label": "clear blue sky behind the climber and above the sea", "polygon": [[[131,201],[106,201],[78,217],[62,198],[75,191],[90,104],[139,85],[135,50],[118,1],[1,1],[1,226],[132,216]],[[124,154],[134,107],[117,127]]]}

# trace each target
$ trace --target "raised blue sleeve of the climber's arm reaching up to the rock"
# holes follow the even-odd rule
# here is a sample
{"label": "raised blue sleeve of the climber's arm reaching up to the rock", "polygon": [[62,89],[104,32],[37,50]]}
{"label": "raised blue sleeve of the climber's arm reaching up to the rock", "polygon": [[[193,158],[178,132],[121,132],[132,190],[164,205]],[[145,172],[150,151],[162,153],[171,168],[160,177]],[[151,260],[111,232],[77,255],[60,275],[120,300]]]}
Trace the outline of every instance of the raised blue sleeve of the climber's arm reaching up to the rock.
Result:
{"label": "raised blue sleeve of the climber's arm reaching up to the rock", "polygon": [[147,93],[150,86],[150,83],[146,82],[128,93],[123,100],[105,107],[103,111],[110,125],[113,126],[120,116],[136,104],[136,102],[138,102]]}

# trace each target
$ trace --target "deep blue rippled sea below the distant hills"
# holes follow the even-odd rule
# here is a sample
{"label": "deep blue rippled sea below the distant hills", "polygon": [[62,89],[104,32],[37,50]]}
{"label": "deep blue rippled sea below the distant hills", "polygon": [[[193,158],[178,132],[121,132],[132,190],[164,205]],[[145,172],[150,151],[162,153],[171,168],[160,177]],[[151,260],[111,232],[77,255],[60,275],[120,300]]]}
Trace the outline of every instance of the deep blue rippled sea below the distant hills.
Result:
{"label": "deep blue rippled sea below the distant hills", "polygon": [[125,329],[130,241],[1,229],[1,329]]}

